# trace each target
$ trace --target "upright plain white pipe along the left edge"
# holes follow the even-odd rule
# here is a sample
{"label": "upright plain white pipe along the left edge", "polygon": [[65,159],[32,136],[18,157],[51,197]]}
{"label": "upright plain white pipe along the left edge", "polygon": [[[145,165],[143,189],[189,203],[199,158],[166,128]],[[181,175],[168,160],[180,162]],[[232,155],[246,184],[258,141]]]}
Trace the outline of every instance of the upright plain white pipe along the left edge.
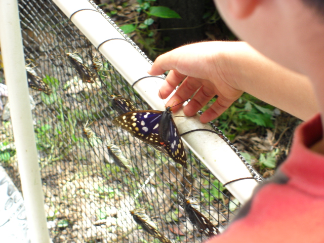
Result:
{"label": "upright plain white pipe along the left edge", "polygon": [[32,125],[18,4],[15,0],[0,0],[0,43],[28,234],[32,243],[47,243],[50,237]]}

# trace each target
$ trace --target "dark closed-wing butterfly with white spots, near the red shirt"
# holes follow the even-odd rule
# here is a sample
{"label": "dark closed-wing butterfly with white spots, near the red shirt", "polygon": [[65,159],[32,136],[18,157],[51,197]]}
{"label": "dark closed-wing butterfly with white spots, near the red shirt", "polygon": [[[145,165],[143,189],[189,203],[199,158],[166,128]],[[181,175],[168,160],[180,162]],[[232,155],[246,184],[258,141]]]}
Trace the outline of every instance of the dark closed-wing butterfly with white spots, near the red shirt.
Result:
{"label": "dark closed-wing butterfly with white spots, near the red shirt", "polygon": [[219,233],[216,226],[198,211],[199,207],[197,205],[197,201],[184,197],[180,197],[179,201],[180,206],[182,206],[186,214],[188,214],[190,222],[198,229],[200,233],[204,233],[208,237],[217,235]]}

